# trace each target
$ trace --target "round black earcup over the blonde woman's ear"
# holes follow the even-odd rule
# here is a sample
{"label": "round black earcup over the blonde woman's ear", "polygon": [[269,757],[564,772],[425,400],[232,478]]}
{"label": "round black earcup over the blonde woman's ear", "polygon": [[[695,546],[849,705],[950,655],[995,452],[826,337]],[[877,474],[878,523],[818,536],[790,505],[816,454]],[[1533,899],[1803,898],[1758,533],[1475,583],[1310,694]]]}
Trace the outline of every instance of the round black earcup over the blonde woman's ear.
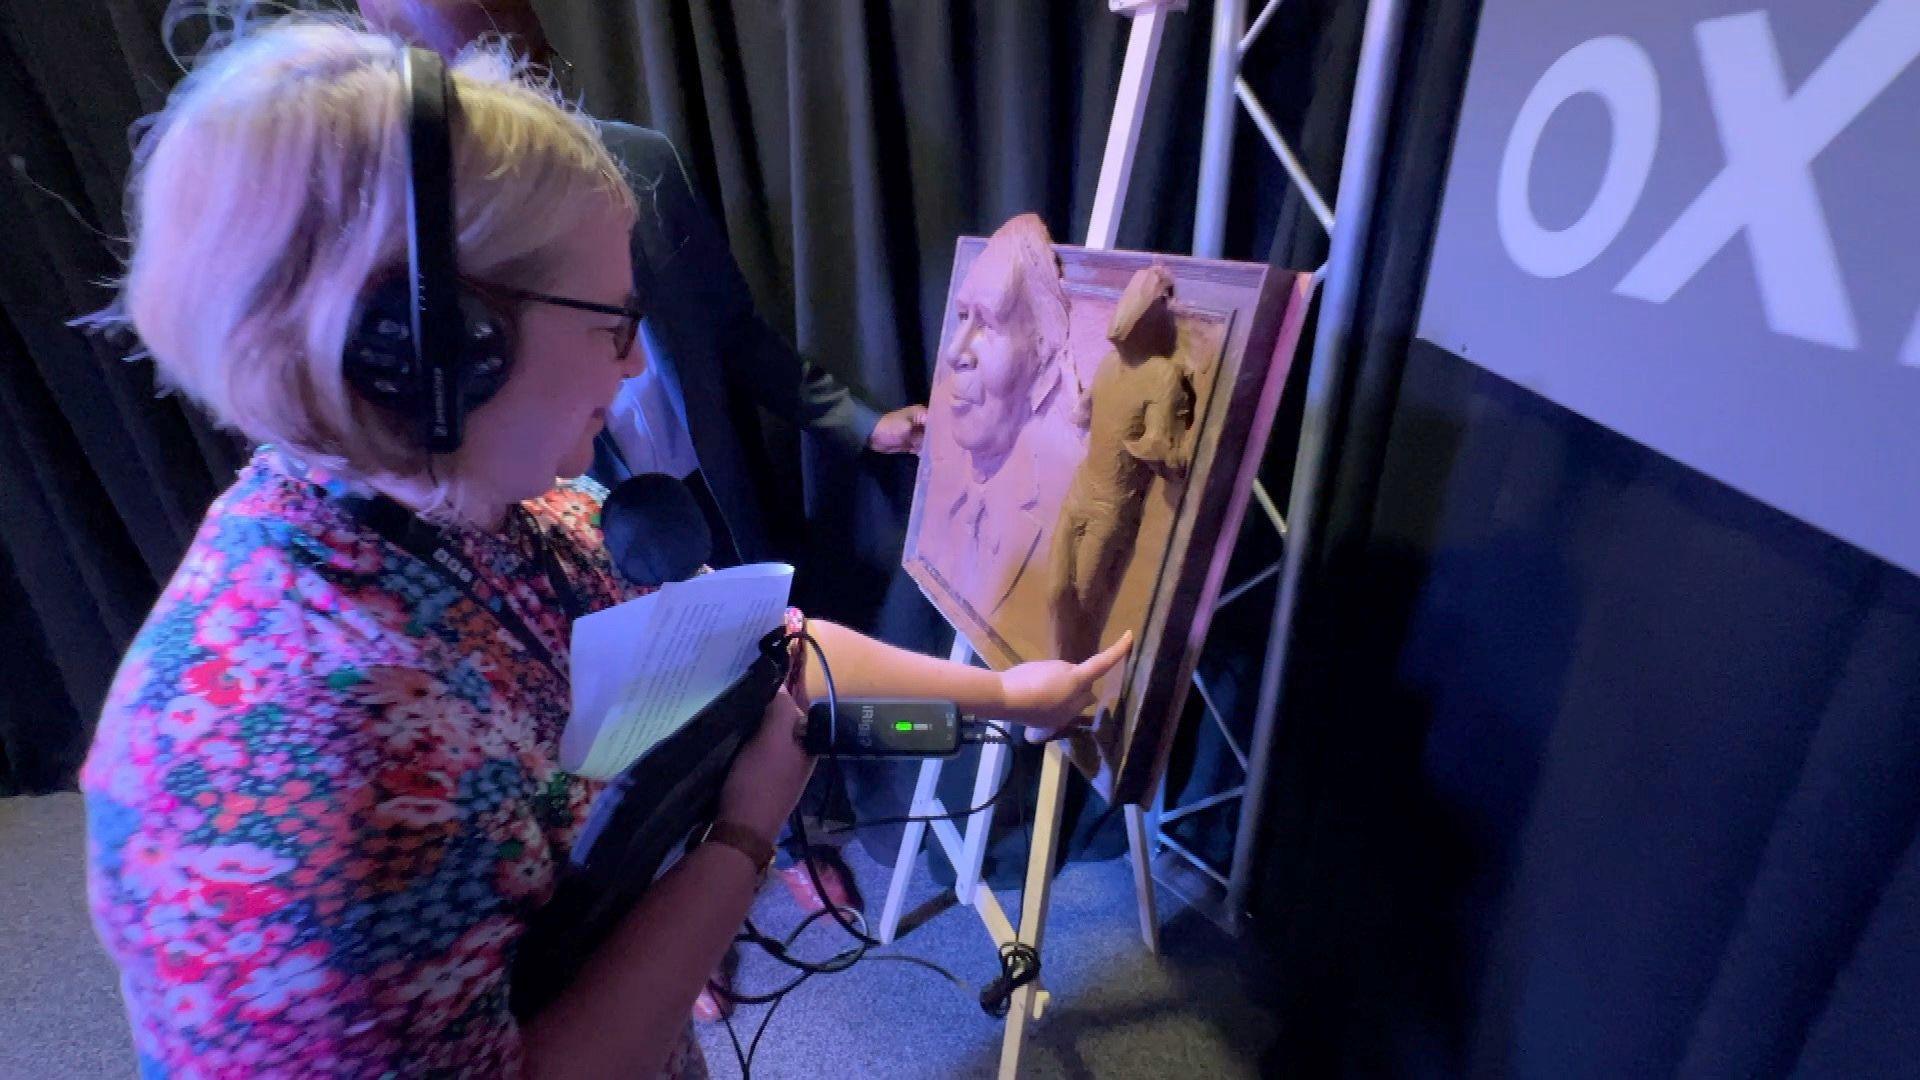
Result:
{"label": "round black earcup over the blonde woman's ear", "polygon": [[[461,344],[455,379],[461,413],[486,404],[513,371],[513,327],[484,296],[461,286]],[[413,306],[405,277],[374,286],[361,304],[340,365],[361,398],[409,421],[426,423],[426,373],[413,340]]]}

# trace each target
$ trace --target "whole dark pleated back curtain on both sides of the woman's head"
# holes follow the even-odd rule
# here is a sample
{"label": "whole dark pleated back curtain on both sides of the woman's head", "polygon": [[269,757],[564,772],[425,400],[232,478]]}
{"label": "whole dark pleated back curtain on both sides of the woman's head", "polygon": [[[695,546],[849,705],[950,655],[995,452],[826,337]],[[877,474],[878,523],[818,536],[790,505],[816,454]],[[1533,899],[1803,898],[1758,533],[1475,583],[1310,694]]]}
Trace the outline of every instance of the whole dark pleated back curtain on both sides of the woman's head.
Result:
{"label": "whole dark pleated back curtain on both sides of the woman's head", "polygon": [[[125,346],[65,325],[117,267],[129,129],[179,77],[165,0],[0,0],[0,792],[69,786],[127,638],[238,446]],[[1104,0],[637,0],[540,4],[566,79],[599,115],[659,127],[728,229],[762,313],[876,404],[924,400],[954,238],[1037,209],[1085,234],[1127,21]],[[1336,183],[1359,4],[1292,0],[1246,77]],[[1169,19],[1121,227],[1190,246],[1212,4]],[[192,44],[192,29],[188,40]],[[1319,227],[1240,119],[1229,258],[1311,267]],[[1296,365],[1294,382],[1306,365]],[[912,463],[849,459],[764,423],[776,540],[812,611],[945,650],[899,573]],[[1284,490],[1292,432],[1271,444]],[[1263,527],[1261,527],[1263,528]],[[1271,540],[1248,530],[1242,561]],[[1221,696],[1250,696],[1271,592],[1229,611]],[[1250,638],[1250,640],[1248,640]],[[1248,653],[1252,657],[1248,659]],[[1202,748],[1198,769],[1212,751]],[[1196,769],[1192,763],[1185,767]],[[952,771],[962,773],[962,771]],[[1202,824],[1202,822],[1196,822]]]}

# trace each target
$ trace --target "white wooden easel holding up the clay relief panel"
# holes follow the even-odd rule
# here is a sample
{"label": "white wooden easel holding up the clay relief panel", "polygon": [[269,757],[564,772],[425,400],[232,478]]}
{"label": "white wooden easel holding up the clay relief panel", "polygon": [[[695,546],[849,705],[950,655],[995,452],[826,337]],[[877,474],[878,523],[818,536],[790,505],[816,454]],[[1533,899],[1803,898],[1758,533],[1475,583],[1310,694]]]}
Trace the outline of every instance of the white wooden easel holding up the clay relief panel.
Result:
{"label": "white wooden easel holding up the clay relief panel", "polygon": [[[1100,161],[1100,186],[1092,200],[1092,217],[1087,223],[1089,248],[1112,248],[1119,233],[1119,213],[1127,202],[1127,181],[1133,175],[1133,156],[1140,144],[1140,123],[1146,119],[1148,88],[1154,81],[1154,61],[1160,58],[1160,38],[1165,19],[1173,12],[1185,12],[1187,0],[1108,0],[1108,6],[1133,19],[1127,37],[1127,60],[1119,73],[1119,94],[1114,100],[1114,121],[1106,135],[1106,156]],[[973,650],[956,634],[950,659],[972,663]],[[1010,767],[1010,748],[987,744],[981,748],[979,771],[973,776],[973,796],[968,803],[977,807],[998,790]],[[920,767],[920,780],[914,784],[912,817],[931,817],[933,836],[947,851],[954,867],[954,897],[979,913],[995,947],[1020,942],[1035,951],[1041,949],[1041,936],[1046,930],[1046,901],[1054,880],[1054,857],[1060,847],[1060,801],[1068,786],[1068,757],[1060,744],[1048,744],[1041,763],[1039,801],[1033,813],[1033,849],[1027,853],[1027,882],[1021,890],[1020,926],[1006,919],[1000,899],[979,880],[981,861],[987,855],[987,832],[993,811],[975,813],[966,822],[966,832],[947,821],[947,807],[935,794],[941,780],[941,761],[927,761]],[[1148,846],[1146,815],[1139,805],[1125,807],[1127,817],[1127,855],[1133,863],[1133,888],[1140,911],[1140,938],[1150,953],[1160,951],[1160,919],[1154,911],[1152,849]],[[879,940],[891,942],[900,928],[900,909],[906,903],[906,882],[912,878],[914,861],[925,842],[929,822],[910,822],[900,836],[900,853],[893,863],[893,880],[887,884],[887,903],[881,907]],[[1039,982],[1014,992],[1012,1007],[1006,1015],[1006,1038],[1000,1043],[1000,1078],[1012,1080],[1020,1074],[1020,1047],[1025,1042],[1027,1024],[1039,1020],[1050,995]]]}

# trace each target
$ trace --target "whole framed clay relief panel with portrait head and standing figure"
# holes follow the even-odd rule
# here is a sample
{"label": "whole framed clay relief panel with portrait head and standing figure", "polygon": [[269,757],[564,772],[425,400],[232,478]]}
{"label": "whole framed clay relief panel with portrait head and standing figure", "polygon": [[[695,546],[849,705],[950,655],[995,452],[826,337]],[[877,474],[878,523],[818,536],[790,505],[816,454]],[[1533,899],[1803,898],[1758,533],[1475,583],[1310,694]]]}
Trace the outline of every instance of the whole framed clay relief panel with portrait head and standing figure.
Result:
{"label": "whole framed clay relief panel with portrait head and standing figure", "polygon": [[1056,246],[1035,215],[960,240],[904,565],[993,667],[1133,630],[1073,746],[1112,798],[1158,780],[1304,300],[1304,275]]}

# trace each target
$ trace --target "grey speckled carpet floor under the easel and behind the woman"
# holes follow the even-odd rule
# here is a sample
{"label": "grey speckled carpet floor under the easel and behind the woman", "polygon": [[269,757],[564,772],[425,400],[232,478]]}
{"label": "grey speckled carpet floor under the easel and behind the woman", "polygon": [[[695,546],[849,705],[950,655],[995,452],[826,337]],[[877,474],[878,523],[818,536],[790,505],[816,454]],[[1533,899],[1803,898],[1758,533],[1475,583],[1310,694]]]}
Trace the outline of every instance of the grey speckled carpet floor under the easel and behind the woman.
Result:
{"label": "grey speckled carpet floor under the easel and behind the woman", "polygon": [[[77,796],[0,799],[0,1078],[131,1076],[113,969],[86,922]],[[885,871],[849,846],[852,871],[879,911]],[[993,1076],[1000,1022],[981,1013],[979,986],[998,970],[987,932],[972,909],[941,903],[922,857],[908,907],[912,930],[856,969],[818,976],[787,997],[755,1057],[755,1074],[885,1076],[889,1080]],[[1018,909],[1018,894],[1002,894]],[[1162,892],[1162,903],[1171,897]],[[918,907],[916,907],[918,905]],[[780,934],[799,911],[780,886],[760,897],[755,919]],[[1162,957],[1140,945],[1125,859],[1075,863],[1054,884],[1044,949],[1052,1011],[1033,1028],[1023,1076],[1073,1080],[1148,1076],[1256,1076],[1273,1022],[1258,1001],[1265,969],[1246,942],[1164,907]],[[841,947],[837,928],[810,930],[797,951]],[[753,953],[753,949],[747,949]],[[925,967],[883,961],[893,953],[945,967],[960,988]],[[741,990],[783,976],[770,959],[745,955]],[[745,1007],[735,1030],[745,1042],[766,1015]],[[701,1028],[714,1076],[737,1076],[726,1028]]]}

